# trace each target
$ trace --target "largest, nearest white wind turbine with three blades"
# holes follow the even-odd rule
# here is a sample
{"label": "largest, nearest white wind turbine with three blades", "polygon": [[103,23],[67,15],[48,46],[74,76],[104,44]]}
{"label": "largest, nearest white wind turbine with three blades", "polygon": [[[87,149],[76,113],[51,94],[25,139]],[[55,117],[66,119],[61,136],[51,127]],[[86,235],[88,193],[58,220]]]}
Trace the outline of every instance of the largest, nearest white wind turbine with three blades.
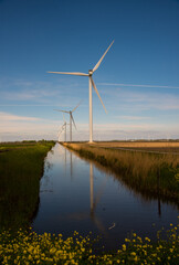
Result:
{"label": "largest, nearest white wind turbine with three blades", "polygon": [[[106,112],[106,108],[103,104],[103,100],[98,94],[97,87],[92,78],[93,73],[98,68],[98,66],[101,65],[104,56],[106,55],[106,53],[108,52],[108,50],[110,49],[110,46],[113,45],[114,41],[110,43],[110,45],[107,47],[107,50],[105,51],[105,53],[103,54],[103,56],[99,59],[99,61],[97,62],[97,64],[94,66],[93,70],[88,70],[88,74],[85,73],[78,73],[78,72],[50,72],[48,71],[48,73],[52,73],[52,74],[67,74],[67,75],[80,75],[80,76],[88,76],[88,105],[90,105],[90,142],[93,142],[93,109],[92,109],[92,86],[95,89],[98,98],[101,99],[101,103]],[[107,113],[107,112],[106,112]]]}

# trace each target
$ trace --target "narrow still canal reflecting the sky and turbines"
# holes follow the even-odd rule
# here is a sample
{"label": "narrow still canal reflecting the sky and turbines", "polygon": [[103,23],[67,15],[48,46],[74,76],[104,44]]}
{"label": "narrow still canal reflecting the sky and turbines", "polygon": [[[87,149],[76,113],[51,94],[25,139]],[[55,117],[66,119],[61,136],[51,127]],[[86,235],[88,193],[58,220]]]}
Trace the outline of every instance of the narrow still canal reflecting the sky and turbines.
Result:
{"label": "narrow still canal reflecting the sky and turbines", "polygon": [[32,226],[38,233],[62,233],[64,237],[74,231],[82,235],[92,231],[102,234],[103,244],[112,250],[130,231],[155,239],[156,231],[176,224],[178,215],[177,205],[145,199],[114,174],[56,144],[45,160]]}

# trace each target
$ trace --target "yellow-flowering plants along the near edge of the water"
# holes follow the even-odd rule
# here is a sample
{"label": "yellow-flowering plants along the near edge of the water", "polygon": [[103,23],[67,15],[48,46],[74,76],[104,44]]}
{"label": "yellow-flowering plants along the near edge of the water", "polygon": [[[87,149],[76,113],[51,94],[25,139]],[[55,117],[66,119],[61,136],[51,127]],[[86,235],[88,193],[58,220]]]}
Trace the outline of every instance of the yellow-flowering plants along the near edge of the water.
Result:
{"label": "yellow-flowering plants along the near edge of the water", "polygon": [[77,232],[63,240],[61,234],[19,231],[13,241],[4,232],[0,234],[0,264],[179,264],[178,226],[170,224],[165,233],[167,239],[160,231],[155,243],[133,233],[117,252],[95,255],[91,236],[83,237]]}

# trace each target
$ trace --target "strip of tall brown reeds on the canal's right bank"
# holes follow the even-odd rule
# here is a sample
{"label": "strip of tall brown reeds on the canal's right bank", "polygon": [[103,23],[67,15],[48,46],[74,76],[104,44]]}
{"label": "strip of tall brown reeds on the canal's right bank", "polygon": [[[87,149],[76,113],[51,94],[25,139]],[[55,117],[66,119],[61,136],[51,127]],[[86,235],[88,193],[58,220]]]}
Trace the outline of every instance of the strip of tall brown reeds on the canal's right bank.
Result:
{"label": "strip of tall brown reeds on the canal's right bank", "polygon": [[179,202],[179,156],[133,152],[87,144],[64,145],[115,172],[133,190]]}

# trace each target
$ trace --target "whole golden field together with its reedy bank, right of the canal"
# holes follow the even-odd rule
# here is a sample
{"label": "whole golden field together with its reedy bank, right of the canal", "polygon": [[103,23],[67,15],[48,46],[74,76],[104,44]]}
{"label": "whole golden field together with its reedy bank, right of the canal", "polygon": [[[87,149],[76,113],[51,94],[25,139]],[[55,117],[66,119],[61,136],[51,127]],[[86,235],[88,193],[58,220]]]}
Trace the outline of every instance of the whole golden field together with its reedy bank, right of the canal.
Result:
{"label": "whole golden field together with its reedy bank, right of the canal", "polygon": [[[144,197],[179,202],[179,142],[64,144]],[[177,150],[177,151],[176,151]]]}

